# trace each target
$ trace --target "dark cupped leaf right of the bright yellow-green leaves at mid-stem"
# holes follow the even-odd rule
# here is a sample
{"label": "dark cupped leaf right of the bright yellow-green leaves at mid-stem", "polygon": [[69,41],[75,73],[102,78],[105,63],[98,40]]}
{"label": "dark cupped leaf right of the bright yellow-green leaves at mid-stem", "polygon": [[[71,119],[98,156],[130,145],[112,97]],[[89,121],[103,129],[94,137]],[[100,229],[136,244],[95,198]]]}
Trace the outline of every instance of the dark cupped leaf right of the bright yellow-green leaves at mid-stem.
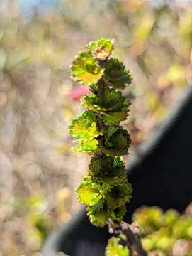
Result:
{"label": "dark cupped leaf right of the bright yellow-green leaves at mid-stem", "polygon": [[128,154],[130,146],[130,135],[128,131],[117,125],[110,125],[106,132],[106,142],[102,151],[111,156]]}

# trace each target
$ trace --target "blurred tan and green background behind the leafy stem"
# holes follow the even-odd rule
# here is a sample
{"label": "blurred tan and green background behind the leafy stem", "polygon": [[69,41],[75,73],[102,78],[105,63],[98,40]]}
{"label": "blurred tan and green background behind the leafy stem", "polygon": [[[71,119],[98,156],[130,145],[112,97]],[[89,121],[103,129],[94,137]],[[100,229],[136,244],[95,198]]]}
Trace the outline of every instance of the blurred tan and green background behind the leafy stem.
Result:
{"label": "blurred tan and green background behind the leafy stem", "polygon": [[81,207],[74,188],[89,156],[70,150],[68,125],[88,88],[69,65],[101,37],[133,76],[128,164],[191,83],[191,1],[0,1],[0,255],[40,256]]}

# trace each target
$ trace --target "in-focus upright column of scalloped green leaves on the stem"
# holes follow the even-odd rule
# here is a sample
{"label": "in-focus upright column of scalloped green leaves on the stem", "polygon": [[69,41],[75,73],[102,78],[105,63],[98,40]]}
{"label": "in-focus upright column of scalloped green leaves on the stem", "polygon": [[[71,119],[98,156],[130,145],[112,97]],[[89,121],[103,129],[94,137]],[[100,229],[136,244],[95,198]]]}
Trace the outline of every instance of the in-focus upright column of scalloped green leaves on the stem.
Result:
{"label": "in-focus upright column of scalloped green leaves on the stem", "polygon": [[[90,93],[81,99],[84,112],[69,125],[69,133],[79,142],[74,151],[91,155],[89,171],[77,188],[77,197],[87,206],[91,223],[100,227],[108,223],[108,218],[117,223],[123,219],[125,203],[132,193],[120,157],[128,154],[130,146],[130,135],[120,126],[128,117],[130,102],[120,90],[132,78],[123,63],[110,58],[113,48],[110,39],[91,42],[71,65],[72,79],[90,86]],[[122,253],[125,250],[118,248],[116,240],[111,247]]]}

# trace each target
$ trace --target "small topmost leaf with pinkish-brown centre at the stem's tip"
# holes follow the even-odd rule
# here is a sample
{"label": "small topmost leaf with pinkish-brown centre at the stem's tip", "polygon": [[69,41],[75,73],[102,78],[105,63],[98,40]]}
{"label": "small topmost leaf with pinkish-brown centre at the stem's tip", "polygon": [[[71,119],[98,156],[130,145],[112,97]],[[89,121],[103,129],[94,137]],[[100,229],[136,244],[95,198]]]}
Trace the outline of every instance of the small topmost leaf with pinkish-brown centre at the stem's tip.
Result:
{"label": "small topmost leaf with pinkish-brown centre at the stem's tip", "polygon": [[114,48],[113,40],[101,38],[98,41],[90,42],[87,46],[96,60],[106,60]]}

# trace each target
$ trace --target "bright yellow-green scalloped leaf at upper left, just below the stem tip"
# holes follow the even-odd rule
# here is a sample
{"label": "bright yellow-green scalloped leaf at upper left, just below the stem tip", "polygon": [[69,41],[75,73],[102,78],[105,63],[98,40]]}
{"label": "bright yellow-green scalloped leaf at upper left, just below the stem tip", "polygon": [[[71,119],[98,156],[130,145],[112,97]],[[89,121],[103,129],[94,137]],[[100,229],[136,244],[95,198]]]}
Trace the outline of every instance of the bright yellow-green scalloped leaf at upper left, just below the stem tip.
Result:
{"label": "bright yellow-green scalloped leaf at upper left, just below the stem tip", "polygon": [[98,65],[96,59],[91,55],[91,51],[80,53],[72,62],[72,79],[91,85],[96,83],[103,75],[103,68]]}

